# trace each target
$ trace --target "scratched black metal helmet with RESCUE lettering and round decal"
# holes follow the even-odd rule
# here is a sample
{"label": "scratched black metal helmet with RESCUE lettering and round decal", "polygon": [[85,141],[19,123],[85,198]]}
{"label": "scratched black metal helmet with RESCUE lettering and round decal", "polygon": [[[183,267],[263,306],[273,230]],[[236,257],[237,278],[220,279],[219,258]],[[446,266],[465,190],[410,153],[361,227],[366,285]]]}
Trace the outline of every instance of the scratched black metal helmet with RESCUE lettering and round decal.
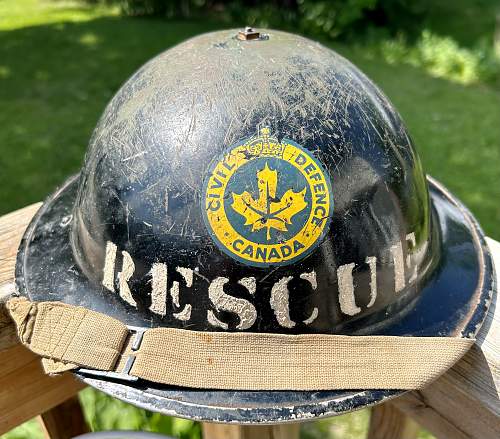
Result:
{"label": "scratched black metal helmet with RESCUE lettering and round decal", "polygon": [[[425,176],[366,76],[296,35],[226,30],[122,86],[81,173],[29,226],[16,281],[31,300],[139,327],[473,337],[492,270],[477,223]],[[201,393],[77,373],[218,421],[341,413],[398,393]]]}

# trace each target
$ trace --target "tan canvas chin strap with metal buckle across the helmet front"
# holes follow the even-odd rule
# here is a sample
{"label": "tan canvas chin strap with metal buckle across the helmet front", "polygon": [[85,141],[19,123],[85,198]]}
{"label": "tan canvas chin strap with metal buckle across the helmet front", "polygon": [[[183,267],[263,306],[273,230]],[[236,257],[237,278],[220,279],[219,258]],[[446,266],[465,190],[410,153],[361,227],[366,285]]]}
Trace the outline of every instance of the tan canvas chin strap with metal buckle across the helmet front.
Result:
{"label": "tan canvas chin strap with metal buckle across the helmet front", "polygon": [[420,389],[474,340],[453,337],[131,331],[61,302],[7,303],[19,338],[47,373],[77,368],[155,383],[231,390]]}

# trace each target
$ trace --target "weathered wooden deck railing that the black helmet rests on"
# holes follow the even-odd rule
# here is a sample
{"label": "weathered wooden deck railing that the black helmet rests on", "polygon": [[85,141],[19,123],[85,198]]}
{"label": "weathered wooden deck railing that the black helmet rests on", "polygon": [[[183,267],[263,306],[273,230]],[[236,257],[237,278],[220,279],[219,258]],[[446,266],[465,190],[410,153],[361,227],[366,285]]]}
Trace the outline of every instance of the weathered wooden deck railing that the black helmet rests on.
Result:
{"label": "weathered wooden deck railing that the black helmet rests on", "polygon": [[[39,207],[40,203],[34,204],[0,218],[0,434],[41,415],[47,437],[66,439],[86,430],[74,399],[83,386],[69,374],[45,375],[38,357],[18,344],[1,306],[14,288],[22,234]],[[493,240],[488,244],[500,267],[500,244]],[[415,421],[439,439],[500,438],[500,307],[495,305],[476,345],[450,371],[420,392],[406,393],[373,409],[369,439],[414,439]],[[73,422],[64,427],[68,412]],[[205,424],[203,431],[205,439],[295,439],[299,434],[293,424]]]}

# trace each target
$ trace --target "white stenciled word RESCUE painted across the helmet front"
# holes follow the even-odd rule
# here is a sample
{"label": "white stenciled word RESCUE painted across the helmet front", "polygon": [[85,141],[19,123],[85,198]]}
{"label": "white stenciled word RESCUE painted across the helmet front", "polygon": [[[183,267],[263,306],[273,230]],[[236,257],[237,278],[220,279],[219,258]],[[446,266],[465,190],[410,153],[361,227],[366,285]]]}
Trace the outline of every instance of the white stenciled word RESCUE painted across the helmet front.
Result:
{"label": "white stenciled word RESCUE painted across the helmet front", "polygon": [[[240,246],[240,244],[238,244],[238,246]],[[392,257],[392,264],[388,267],[383,266],[382,268],[394,268],[394,291],[396,294],[401,292],[408,284],[412,284],[416,281],[418,266],[426,248],[425,243],[422,247],[416,248],[416,237],[413,232],[406,235],[406,241],[398,242],[390,247],[389,255]],[[112,242],[106,243],[102,271],[102,286],[111,292],[116,292],[120,298],[129,305],[137,307],[137,303],[131,291],[131,285],[134,283],[130,282],[136,269],[134,260],[127,251],[121,251],[121,271],[117,273],[117,278],[115,279],[115,272],[118,271],[119,265],[119,263],[117,263],[118,251],[120,250],[117,248],[116,244]],[[405,251],[407,253],[405,253]],[[336,270],[338,300],[342,314],[354,316],[359,314],[362,310],[370,309],[377,301],[378,259],[375,256],[368,256],[365,258],[364,263],[368,266],[368,272],[365,276],[368,276],[369,284],[369,298],[366,299],[368,301],[366,307],[364,305],[361,307],[356,304],[355,293],[358,288],[354,282],[356,264],[352,262],[341,265]],[[363,264],[363,268],[365,267],[366,266]],[[173,281],[172,286],[168,289],[168,270],[169,268],[165,263],[155,262],[151,265],[151,271],[149,272],[151,279],[151,304],[149,310],[152,313],[162,317],[166,316],[167,310],[169,309],[168,300],[170,298],[172,300],[173,318],[180,321],[190,320],[193,308],[189,303],[182,304],[181,289],[193,288],[194,274],[196,272],[209,284],[208,298],[213,306],[212,309],[205,308],[205,312],[210,325],[222,329],[229,329],[228,322],[224,322],[224,318],[219,315],[221,312],[230,312],[238,317],[239,322],[236,325],[236,329],[245,330],[254,325],[257,320],[257,310],[252,303],[252,299],[246,300],[227,294],[224,291],[224,286],[229,282],[228,278],[216,277],[210,282],[209,279],[198,273],[198,269],[192,270],[187,267],[176,267],[175,270],[180,274],[181,280]],[[318,290],[318,279],[314,270],[302,273],[299,277],[311,285],[312,291]],[[290,316],[290,302],[292,298],[290,297],[289,283],[293,279],[293,276],[282,277],[272,285],[270,291],[270,306],[274,312],[277,323],[284,328],[294,328],[300,323],[299,321],[293,321]],[[245,288],[252,297],[255,297],[260,292],[258,291],[259,285],[255,277],[243,277],[239,280],[235,279],[235,283]],[[326,287],[323,285],[323,288]],[[261,293],[267,294],[267,291]],[[199,291],[199,293],[202,295],[206,294],[206,290]],[[363,299],[368,295],[368,291],[363,290],[360,291],[360,293],[363,294]],[[358,301],[359,300],[360,299],[358,299]],[[365,299],[363,300],[363,303],[364,302]],[[199,303],[202,304],[204,302],[200,301]],[[308,317],[301,319],[301,323],[311,325],[319,317],[320,313],[321,310],[317,307],[306,308],[304,316]],[[220,320],[220,318],[222,318],[222,320]]]}

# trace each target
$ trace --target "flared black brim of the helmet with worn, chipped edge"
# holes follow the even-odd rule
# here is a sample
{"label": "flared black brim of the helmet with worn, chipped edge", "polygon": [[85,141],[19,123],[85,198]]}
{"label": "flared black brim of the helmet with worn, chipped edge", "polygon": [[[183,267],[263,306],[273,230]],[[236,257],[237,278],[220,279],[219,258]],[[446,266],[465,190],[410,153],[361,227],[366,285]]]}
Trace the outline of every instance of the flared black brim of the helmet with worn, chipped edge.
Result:
{"label": "flared black brim of the helmet with worn, chipped edge", "polygon": [[[472,214],[442,185],[428,178],[440,257],[408,312],[377,332],[399,336],[473,338],[495,288],[484,234]],[[34,301],[62,301],[90,307],[128,325],[144,325],[123,303],[80,271],[70,243],[78,186],[71,177],[37,212],[21,242],[16,284]],[[89,300],[89,296],[92,300]],[[144,381],[75,374],[103,392],[166,415],[213,422],[283,423],[339,415],[395,397],[403,391],[221,391],[185,389]]]}

